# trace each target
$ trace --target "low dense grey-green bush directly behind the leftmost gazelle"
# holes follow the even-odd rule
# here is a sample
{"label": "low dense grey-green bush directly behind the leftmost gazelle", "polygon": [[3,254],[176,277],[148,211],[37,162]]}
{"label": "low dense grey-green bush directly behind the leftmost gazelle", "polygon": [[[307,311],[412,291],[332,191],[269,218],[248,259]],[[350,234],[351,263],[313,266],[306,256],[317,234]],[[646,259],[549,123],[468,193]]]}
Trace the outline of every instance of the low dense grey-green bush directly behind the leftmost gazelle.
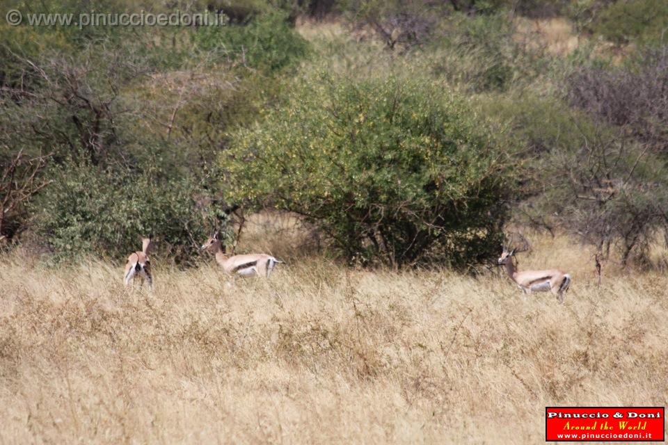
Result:
{"label": "low dense grey-green bush directly behind the leftmost gazelle", "polygon": [[212,229],[204,215],[225,217],[222,208],[198,205],[195,198],[206,193],[174,172],[100,172],[67,163],[53,179],[33,212],[35,232],[56,261],[82,254],[122,259],[141,246],[140,236],[153,233],[157,252],[187,263]]}

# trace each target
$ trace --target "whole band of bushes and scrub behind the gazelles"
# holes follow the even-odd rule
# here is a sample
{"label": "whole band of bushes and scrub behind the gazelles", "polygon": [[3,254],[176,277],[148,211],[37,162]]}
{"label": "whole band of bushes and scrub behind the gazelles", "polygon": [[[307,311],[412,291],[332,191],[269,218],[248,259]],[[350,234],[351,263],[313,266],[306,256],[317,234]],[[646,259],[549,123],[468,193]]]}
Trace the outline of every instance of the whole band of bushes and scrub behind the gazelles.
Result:
{"label": "whole band of bushes and scrub behind the gazelles", "polygon": [[663,2],[4,6],[225,17],[2,24],[6,248],[117,257],[154,232],[189,265],[231,205],[369,266],[477,268],[509,223],[625,265],[665,238]]}

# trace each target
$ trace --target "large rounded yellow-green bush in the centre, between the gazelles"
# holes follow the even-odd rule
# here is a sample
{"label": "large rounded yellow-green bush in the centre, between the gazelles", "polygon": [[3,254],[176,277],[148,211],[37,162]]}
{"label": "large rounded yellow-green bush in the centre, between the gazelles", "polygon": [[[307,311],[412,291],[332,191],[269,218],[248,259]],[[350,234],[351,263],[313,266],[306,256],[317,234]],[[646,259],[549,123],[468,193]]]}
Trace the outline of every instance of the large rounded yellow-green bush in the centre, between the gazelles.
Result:
{"label": "large rounded yellow-green bush in the centre, between the gazelles", "polygon": [[221,166],[229,200],[300,213],[347,259],[397,266],[493,256],[514,191],[507,147],[417,80],[296,81]]}

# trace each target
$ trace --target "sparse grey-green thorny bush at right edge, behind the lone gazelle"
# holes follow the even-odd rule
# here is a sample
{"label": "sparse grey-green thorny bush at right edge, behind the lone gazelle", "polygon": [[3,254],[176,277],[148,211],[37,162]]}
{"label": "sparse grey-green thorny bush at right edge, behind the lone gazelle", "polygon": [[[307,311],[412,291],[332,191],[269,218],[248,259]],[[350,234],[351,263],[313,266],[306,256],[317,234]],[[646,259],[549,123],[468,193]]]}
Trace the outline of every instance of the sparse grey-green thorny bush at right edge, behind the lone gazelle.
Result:
{"label": "sparse grey-green thorny bush at right edge, behind the lone gazelle", "polygon": [[514,223],[566,229],[603,257],[616,250],[624,265],[646,262],[657,234],[668,229],[665,162],[649,145],[557,99],[479,102],[485,115],[509,123],[508,137],[525,147]]}

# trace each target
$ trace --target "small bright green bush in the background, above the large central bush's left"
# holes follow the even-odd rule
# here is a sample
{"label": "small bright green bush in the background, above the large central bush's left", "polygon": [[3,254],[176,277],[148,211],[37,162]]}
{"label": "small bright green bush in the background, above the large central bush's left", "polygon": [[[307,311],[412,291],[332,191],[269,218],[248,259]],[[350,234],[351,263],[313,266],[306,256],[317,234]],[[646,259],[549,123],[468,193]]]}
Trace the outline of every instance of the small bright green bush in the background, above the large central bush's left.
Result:
{"label": "small bright green bush in the background, above the large central bush's left", "polygon": [[202,26],[193,35],[204,51],[269,72],[294,63],[308,51],[307,42],[287,22],[287,14],[271,11],[257,15],[248,24]]}

